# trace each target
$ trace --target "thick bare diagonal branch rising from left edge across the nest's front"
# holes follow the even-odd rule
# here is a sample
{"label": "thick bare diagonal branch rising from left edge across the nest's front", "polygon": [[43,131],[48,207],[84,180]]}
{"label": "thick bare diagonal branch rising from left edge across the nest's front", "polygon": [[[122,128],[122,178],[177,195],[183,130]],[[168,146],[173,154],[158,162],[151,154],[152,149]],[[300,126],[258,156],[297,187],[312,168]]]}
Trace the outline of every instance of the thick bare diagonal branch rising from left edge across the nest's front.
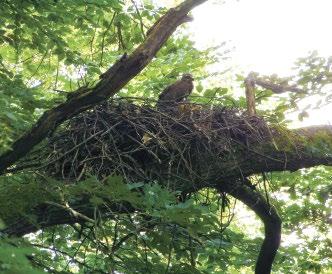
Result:
{"label": "thick bare diagonal branch rising from left edge across the nest's front", "polygon": [[207,0],[186,0],[170,9],[152,27],[145,41],[126,58],[119,60],[94,88],[73,96],[65,103],[46,111],[30,131],[14,142],[12,150],[0,156],[0,174],[25,156],[35,145],[51,134],[63,121],[113,96],[142,71],[172,35],[187,21],[188,12]]}

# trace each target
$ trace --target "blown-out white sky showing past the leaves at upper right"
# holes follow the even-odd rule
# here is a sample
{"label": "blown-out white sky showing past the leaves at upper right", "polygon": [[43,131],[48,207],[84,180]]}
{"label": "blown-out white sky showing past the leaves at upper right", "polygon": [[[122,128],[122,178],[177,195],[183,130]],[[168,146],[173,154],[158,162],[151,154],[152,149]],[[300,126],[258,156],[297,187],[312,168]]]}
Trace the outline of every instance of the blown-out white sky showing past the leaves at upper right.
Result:
{"label": "blown-out white sky showing past the leaves at upper right", "polygon": [[[245,73],[287,76],[294,61],[311,50],[332,56],[332,0],[220,2],[197,7],[189,29],[199,47],[229,41],[235,47],[232,63]],[[310,114],[301,125],[332,124],[332,106]]]}

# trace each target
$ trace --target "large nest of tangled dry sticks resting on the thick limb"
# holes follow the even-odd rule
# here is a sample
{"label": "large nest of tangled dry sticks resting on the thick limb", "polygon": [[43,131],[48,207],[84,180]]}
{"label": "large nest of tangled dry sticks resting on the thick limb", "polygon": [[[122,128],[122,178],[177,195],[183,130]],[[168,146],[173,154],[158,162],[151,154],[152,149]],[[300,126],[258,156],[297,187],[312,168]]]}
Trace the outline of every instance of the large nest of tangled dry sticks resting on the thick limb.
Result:
{"label": "large nest of tangled dry sticks resting on the thick limb", "polygon": [[44,150],[42,169],[72,182],[117,174],[128,182],[198,187],[221,166],[234,169],[239,151],[270,136],[262,118],[236,109],[181,104],[160,111],[146,100],[113,99],[59,130]]}

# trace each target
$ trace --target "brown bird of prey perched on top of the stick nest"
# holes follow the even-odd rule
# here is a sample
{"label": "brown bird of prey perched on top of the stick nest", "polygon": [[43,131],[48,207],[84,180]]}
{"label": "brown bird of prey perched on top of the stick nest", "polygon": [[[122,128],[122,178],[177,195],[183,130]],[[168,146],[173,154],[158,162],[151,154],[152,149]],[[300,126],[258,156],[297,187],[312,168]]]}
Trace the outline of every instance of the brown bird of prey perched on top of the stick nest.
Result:
{"label": "brown bird of prey perched on top of the stick nest", "polygon": [[159,95],[157,108],[174,107],[177,103],[185,101],[194,88],[193,80],[194,78],[191,74],[183,74],[180,80],[165,88]]}

